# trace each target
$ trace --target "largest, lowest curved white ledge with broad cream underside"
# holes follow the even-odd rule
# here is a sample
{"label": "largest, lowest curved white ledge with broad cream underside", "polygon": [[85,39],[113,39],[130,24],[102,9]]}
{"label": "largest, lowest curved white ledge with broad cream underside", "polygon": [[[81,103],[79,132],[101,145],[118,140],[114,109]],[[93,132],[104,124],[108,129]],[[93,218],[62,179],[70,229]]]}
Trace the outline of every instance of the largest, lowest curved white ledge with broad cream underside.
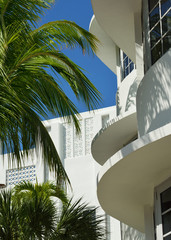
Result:
{"label": "largest, lowest curved white ledge with broad cream underside", "polygon": [[154,187],[171,175],[171,124],[118,151],[98,176],[105,212],[144,232],[144,206],[153,207]]}

